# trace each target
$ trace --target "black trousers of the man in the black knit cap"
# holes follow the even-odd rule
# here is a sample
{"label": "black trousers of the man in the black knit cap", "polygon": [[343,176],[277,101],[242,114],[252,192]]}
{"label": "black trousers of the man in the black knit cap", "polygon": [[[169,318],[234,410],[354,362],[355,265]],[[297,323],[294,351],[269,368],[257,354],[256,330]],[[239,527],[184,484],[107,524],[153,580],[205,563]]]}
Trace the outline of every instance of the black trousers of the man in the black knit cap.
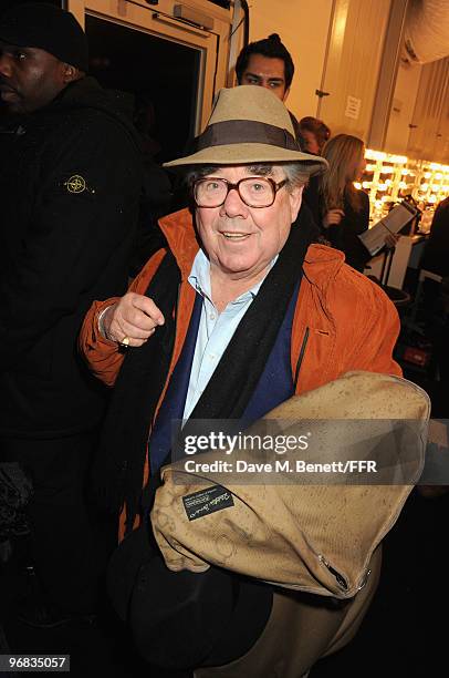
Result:
{"label": "black trousers of the man in the black knit cap", "polygon": [[73,614],[97,609],[100,585],[116,541],[116,520],[88,504],[86,485],[97,435],[2,440],[0,460],[32,479],[27,507],[33,564],[48,599]]}

